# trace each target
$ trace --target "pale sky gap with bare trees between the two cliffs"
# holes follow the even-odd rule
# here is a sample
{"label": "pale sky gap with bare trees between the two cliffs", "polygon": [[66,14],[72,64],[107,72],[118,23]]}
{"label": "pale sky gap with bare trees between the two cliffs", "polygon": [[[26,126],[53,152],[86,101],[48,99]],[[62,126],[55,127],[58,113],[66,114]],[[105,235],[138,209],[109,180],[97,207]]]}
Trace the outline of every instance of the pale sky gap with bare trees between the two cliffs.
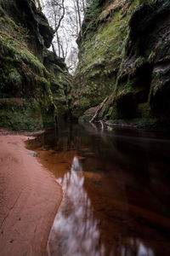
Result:
{"label": "pale sky gap with bare trees between the two cliffs", "polygon": [[42,1],[43,12],[54,29],[53,50],[63,57],[68,67],[77,66],[76,39],[81,30],[87,0],[36,0]]}

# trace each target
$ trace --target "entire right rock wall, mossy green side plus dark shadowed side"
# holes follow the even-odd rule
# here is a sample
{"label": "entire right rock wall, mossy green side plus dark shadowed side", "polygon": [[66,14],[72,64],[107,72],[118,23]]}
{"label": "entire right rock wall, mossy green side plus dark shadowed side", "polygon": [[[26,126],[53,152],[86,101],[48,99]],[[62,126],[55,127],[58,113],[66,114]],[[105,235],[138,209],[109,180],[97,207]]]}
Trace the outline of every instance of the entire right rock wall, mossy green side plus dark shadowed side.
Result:
{"label": "entire right rock wall, mossy green side plus dark shadowed side", "polygon": [[169,125],[169,22],[168,0],[94,1],[77,39],[73,115]]}

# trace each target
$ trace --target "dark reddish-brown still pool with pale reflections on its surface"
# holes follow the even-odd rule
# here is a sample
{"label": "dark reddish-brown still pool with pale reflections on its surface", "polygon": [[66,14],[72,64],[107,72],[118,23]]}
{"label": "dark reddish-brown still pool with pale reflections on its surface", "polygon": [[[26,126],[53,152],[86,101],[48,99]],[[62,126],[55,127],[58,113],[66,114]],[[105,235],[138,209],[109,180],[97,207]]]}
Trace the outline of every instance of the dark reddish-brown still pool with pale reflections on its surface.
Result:
{"label": "dark reddish-brown still pool with pale reflections on its surface", "polygon": [[170,255],[170,135],[59,124],[31,141],[64,198],[51,256]]}

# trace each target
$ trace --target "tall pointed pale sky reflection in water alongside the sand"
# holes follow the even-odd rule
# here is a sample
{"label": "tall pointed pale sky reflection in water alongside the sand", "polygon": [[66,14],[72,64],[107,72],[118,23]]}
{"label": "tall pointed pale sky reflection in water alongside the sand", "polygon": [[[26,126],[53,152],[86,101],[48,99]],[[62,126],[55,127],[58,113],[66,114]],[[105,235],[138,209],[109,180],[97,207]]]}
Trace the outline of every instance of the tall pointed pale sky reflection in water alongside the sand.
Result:
{"label": "tall pointed pale sky reflection in water alongside the sand", "polygon": [[[99,243],[98,221],[94,218],[88,194],[83,189],[82,166],[74,157],[71,172],[58,179],[66,198],[56,215],[48,241],[49,255],[105,255],[105,246]],[[66,210],[65,210],[66,206]],[[69,206],[69,207],[68,207]],[[57,243],[56,243],[57,241]]]}

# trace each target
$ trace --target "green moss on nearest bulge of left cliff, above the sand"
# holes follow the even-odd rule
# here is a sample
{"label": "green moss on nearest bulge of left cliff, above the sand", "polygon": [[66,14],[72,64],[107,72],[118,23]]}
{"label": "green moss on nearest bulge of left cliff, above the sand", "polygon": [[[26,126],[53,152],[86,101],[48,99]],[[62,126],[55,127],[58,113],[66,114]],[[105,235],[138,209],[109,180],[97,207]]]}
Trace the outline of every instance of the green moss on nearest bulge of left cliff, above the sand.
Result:
{"label": "green moss on nearest bulge of left cliff, above the sand", "polygon": [[[15,24],[14,20],[0,9],[0,16],[2,13],[0,126],[14,130],[37,130],[42,128],[43,115],[47,113],[49,106],[53,105],[49,73],[28,49],[26,28]],[[23,97],[21,101],[18,100],[20,97]]]}

